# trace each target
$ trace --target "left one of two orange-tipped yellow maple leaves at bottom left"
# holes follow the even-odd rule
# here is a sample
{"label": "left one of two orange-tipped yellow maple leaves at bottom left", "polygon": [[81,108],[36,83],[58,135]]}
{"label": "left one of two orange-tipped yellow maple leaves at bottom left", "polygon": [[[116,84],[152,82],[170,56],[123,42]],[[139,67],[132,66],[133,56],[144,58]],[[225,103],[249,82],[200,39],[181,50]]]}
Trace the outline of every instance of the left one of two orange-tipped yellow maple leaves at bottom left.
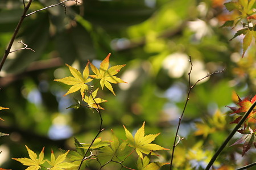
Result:
{"label": "left one of two orange-tipped yellow maple leaves at bottom left", "polygon": [[28,151],[28,155],[30,156],[30,159],[29,158],[12,158],[12,159],[22,163],[23,165],[28,166],[28,168],[26,170],[40,169],[41,168],[40,165],[42,165],[44,162],[46,162],[46,160],[44,160],[44,147],[39,154],[39,158],[37,158],[38,156],[36,155],[36,153],[34,151],[30,150],[30,148],[28,148],[27,146],[26,146],[26,148]]}

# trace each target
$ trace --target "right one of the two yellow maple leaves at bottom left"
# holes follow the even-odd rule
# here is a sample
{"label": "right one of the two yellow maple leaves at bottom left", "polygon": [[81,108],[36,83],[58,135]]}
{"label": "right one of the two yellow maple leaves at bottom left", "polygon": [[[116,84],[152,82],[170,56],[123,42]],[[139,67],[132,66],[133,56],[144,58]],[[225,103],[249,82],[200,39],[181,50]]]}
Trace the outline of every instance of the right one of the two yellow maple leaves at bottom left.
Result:
{"label": "right one of the two yellow maple leaves at bottom left", "polygon": [[76,167],[77,165],[72,164],[72,163],[68,163],[68,162],[64,162],[64,160],[66,159],[68,152],[65,152],[64,154],[61,154],[57,157],[57,159],[55,158],[55,155],[52,151],[51,154],[51,161],[47,160],[48,164],[50,164],[52,167],[49,168],[49,170],[63,170],[63,169],[67,169],[67,168],[72,168],[72,167]]}

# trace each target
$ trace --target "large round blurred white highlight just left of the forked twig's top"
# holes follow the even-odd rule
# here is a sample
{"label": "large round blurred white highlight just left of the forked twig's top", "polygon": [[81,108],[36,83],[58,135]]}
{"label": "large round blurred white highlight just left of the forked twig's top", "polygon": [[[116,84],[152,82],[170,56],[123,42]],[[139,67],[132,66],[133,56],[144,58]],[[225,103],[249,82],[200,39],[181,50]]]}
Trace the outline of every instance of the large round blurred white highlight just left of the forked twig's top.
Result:
{"label": "large round blurred white highlight just left of the forked twig's top", "polygon": [[172,78],[180,78],[188,66],[188,56],[184,53],[170,54],[163,61],[163,68],[168,70],[168,75]]}

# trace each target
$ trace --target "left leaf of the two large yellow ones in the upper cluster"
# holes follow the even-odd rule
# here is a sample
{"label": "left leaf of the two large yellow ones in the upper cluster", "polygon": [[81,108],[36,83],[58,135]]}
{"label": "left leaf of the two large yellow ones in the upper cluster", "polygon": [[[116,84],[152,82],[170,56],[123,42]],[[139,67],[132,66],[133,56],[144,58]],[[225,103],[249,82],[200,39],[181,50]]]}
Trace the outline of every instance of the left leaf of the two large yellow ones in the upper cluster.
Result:
{"label": "left leaf of the two large yellow ones in the upper cluster", "polygon": [[68,76],[62,79],[55,79],[56,82],[61,82],[64,84],[72,85],[71,88],[69,88],[68,92],[64,95],[72,94],[73,92],[76,92],[80,90],[80,93],[82,96],[84,96],[84,92],[88,90],[88,85],[86,83],[89,83],[92,81],[92,79],[88,78],[89,76],[89,62],[86,64],[84,71],[82,74],[79,70],[69,66],[66,64],[69,68],[69,71],[71,72],[72,76]]}

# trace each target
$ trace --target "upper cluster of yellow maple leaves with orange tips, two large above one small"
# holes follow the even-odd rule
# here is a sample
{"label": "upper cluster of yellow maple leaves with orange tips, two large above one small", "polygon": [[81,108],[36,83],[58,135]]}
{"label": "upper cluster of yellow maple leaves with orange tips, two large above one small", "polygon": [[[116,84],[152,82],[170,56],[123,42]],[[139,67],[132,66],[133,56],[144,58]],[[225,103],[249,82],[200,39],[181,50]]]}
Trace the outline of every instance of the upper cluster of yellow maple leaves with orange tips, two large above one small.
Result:
{"label": "upper cluster of yellow maple leaves with orange tips, two large above one small", "polygon": [[[117,65],[112,66],[109,68],[109,57],[110,54],[101,62],[100,69],[97,69],[96,66],[93,65],[90,61],[86,64],[84,71],[82,74],[79,70],[73,68],[72,66],[69,66],[66,64],[73,76],[68,76],[62,79],[55,79],[57,82],[65,83],[68,85],[72,85],[71,88],[69,88],[68,92],[65,95],[71,94],[73,92],[79,91],[82,96],[82,101],[87,103],[88,107],[95,108],[95,109],[104,109],[99,104],[103,103],[107,100],[101,99],[97,96],[98,88],[95,91],[89,90],[89,87],[93,87],[94,85],[89,85],[90,82],[92,82],[93,79],[100,79],[100,85],[102,87],[102,90],[104,86],[108,88],[114,95],[113,87],[110,83],[127,83],[123,81],[122,79],[118,78],[117,76],[114,76],[117,74],[122,67],[125,65]],[[94,75],[89,75],[89,65],[92,69]],[[96,84],[98,81],[96,82]],[[64,95],[64,96],[65,96]],[[79,100],[76,100],[77,104],[72,105],[69,108],[79,108],[81,106],[81,102]]]}

